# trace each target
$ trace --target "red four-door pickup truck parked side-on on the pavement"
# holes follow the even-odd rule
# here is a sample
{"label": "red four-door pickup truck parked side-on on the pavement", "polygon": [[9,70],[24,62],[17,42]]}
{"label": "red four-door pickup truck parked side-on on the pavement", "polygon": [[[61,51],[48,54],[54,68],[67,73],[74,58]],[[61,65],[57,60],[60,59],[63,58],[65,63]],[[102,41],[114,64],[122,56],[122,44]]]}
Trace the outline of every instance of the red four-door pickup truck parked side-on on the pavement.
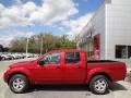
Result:
{"label": "red four-door pickup truck parked side-on on the pavement", "polygon": [[106,94],[109,84],[124,79],[126,64],[117,61],[87,61],[82,50],[55,50],[34,61],[10,65],[4,82],[14,93],[24,93],[29,85],[88,84],[95,94]]}

